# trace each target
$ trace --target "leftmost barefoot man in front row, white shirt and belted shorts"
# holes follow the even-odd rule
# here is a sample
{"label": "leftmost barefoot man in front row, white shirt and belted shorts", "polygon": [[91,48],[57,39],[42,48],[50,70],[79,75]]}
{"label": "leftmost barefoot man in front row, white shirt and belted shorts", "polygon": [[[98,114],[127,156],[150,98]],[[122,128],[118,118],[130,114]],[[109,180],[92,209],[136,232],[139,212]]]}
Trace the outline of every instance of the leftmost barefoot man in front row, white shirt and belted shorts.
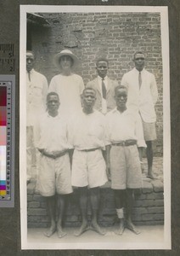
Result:
{"label": "leftmost barefoot man in front row, white shirt and belted shorts", "polygon": [[[70,155],[65,119],[59,115],[59,96],[48,93],[47,113],[38,120],[35,128],[35,144],[40,155],[38,189],[47,200],[50,228],[44,233],[52,236],[57,230],[59,238],[65,236],[62,221],[67,196],[72,193],[70,183]],[[57,199],[57,202],[56,200]],[[56,209],[58,221],[56,224]]]}

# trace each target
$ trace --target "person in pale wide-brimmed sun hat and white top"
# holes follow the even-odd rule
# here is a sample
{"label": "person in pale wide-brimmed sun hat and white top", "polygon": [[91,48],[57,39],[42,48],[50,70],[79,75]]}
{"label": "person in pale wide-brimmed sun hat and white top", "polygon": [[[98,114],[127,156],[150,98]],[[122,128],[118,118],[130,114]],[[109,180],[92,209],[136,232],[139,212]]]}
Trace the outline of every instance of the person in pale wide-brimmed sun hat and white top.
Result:
{"label": "person in pale wide-brimmed sun hat and white top", "polygon": [[54,56],[54,64],[58,67],[59,74],[51,80],[48,91],[58,93],[61,102],[60,113],[68,118],[82,108],[81,94],[84,83],[81,76],[73,73],[78,63],[77,56],[69,49],[64,49]]}

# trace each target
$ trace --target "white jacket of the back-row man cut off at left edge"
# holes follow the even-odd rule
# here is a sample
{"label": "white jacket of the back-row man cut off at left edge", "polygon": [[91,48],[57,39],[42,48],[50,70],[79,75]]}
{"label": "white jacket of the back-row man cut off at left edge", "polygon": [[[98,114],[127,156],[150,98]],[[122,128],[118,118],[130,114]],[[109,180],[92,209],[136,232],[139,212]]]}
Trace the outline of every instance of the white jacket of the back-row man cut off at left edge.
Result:
{"label": "white jacket of the back-row man cut off at left edge", "polygon": [[48,81],[41,73],[32,69],[30,79],[26,72],[26,85],[27,126],[31,126],[46,108]]}

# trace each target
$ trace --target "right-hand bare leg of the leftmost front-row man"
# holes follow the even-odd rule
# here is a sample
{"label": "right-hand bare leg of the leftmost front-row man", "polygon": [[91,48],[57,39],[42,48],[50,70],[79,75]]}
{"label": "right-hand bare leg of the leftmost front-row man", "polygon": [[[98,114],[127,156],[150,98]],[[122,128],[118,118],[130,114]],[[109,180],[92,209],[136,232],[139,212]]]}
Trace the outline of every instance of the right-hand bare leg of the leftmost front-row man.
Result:
{"label": "right-hand bare leg of the leftmost front-row man", "polygon": [[66,233],[62,229],[62,220],[65,213],[65,199],[66,195],[58,195],[59,218],[57,223],[57,233],[59,238],[62,238],[63,236],[66,235]]}

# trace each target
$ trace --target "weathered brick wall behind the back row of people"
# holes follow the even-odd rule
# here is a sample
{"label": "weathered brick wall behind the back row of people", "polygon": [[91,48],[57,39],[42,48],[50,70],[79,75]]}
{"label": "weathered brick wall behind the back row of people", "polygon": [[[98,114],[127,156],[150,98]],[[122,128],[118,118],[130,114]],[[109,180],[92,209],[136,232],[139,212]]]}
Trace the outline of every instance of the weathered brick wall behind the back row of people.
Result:
{"label": "weathered brick wall behind the back row of people", "polygon": [[159,90],[156,104],[157,141],[155,154],[162,154],[162,56],[160,14],[158,13],[69,13],[41,14],[50,26],[32,29],[31,45],[37,55],[37,71],[48,82],[59,73],[53,56],[62,49],[71,49],[81,60],[76,73],[84,83],[96,76],[95,60],[106,56],[110,61],[109,77],[121,82],[122,75],[133,67],[132,54],[143,50],[146,68],[155,74]]}

